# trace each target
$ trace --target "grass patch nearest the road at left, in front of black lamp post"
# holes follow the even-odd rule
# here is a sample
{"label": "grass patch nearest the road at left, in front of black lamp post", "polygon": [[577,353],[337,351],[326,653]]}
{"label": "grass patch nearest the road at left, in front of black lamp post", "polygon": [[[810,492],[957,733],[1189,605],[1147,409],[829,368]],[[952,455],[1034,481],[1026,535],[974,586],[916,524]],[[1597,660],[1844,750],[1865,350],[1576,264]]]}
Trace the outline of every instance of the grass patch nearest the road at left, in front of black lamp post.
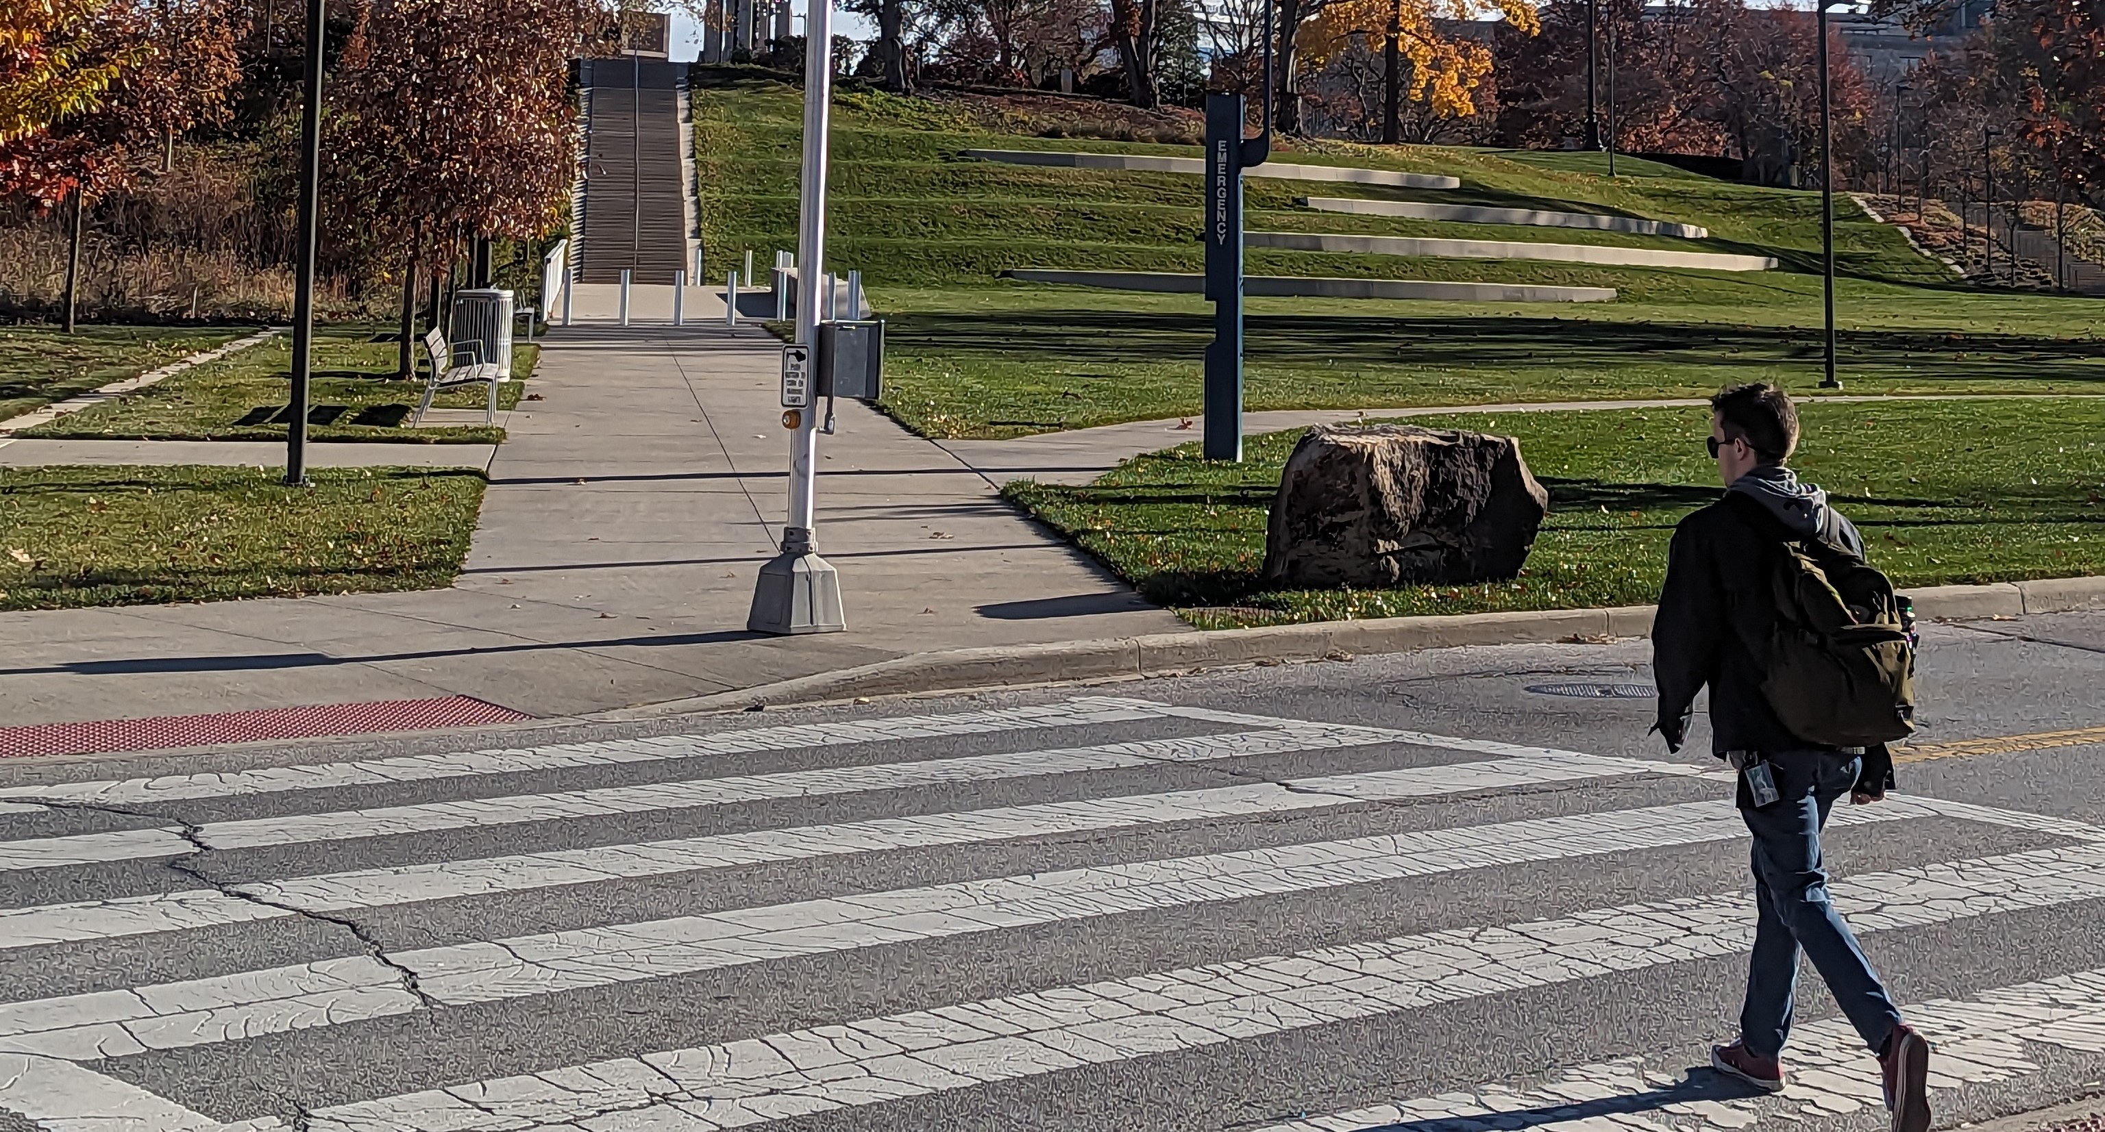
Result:
{"label": "grass patch nearest the road at left, in front of black lamp post", "polygon": [[453,581],[482,473],[0,467],[0,610],[432,589]]}

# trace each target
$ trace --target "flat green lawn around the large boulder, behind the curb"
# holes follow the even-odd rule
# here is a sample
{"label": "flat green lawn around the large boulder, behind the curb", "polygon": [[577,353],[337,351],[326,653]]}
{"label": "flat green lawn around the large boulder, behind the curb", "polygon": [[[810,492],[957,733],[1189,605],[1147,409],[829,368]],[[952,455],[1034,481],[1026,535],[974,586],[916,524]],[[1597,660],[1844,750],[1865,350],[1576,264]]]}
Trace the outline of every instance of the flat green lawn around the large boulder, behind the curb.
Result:
{"label": "flat green lawn around the large boulder, behind the curb", "polygon": [[[1518,579],[1463,587],[1267,591],[1265,520],[1301,431],[1252,438],[1242,465],[1198,446],[1090,486],[1006,497],[1204,627],[1648,604],[1673,524],[1718,497],[1709,415],[1593,410],[1415,419],[1513,436],[1549,490]],[[1793,465],[1833,492],[1897,585],[2105,572],[2105,402],[1804,404]]]}

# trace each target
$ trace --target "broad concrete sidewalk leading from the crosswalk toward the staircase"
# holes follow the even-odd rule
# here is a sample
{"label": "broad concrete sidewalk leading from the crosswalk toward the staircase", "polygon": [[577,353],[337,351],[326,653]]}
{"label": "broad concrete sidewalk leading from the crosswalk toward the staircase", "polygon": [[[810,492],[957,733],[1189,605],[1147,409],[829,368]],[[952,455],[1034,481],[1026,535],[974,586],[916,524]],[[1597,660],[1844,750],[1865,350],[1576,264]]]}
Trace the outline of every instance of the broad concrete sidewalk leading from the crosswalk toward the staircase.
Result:
{"label": "broad concrete sidewalk leading from the crosswalk toward the staircase", "polygon": [[545,349],[545,400],[512,415],[453,587],[0,614],[0,726],[446,694],[573,715],[937,648],[1185,631],[985,476],[842,404],[817,539],[848,631],[751,635],[787,492],[779,343],[573,326]]}

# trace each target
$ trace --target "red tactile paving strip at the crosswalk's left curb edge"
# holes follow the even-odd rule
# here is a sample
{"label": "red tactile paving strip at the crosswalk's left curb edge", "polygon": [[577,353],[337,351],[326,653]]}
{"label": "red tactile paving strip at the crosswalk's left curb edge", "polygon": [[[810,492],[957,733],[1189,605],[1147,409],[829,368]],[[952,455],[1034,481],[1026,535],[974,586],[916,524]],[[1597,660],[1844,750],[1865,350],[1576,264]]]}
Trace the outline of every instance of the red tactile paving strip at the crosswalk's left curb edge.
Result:
{"label": "red tactile paving strip at the crosswalk's left curb edge", "polygon": [[217,715],[158,715],[152,720],[93,720],[84,724],[32,724],[0,728],[0,755],[101,755],[162,751],[259,739],[318,739],[385,730],[463,728],[528,720],[520,711],[474,696],[427,701],[318,703]]}

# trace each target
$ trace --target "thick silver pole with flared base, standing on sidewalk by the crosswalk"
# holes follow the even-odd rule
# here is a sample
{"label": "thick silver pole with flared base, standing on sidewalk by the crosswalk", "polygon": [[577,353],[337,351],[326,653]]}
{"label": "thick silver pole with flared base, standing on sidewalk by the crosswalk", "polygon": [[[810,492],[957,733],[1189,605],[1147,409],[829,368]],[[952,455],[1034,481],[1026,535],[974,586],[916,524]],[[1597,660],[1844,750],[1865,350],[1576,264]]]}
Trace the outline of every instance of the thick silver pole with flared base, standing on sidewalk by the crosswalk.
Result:
{"label": "thick silver pole with flared base, standing on sidewalk by the crosswalk", "polygon": [[[796,257],[796,343],[819,353],[819,295],[825,276],[825,162],[834,101],[834,0],[810,0],[804,19],[804,173]],[[781,280],[783,276],[777,276]],[[806,375],[808,379],[808,375]],[[789,400],[787,396],[783,400]],[[819,421],[810,404],[783,412],[789,429],[789,518],[781,553],[760,568],[745,627],[756,633],[838,633],[848,627],[840,606],[840,572],[813,543],[813,476],[819,463]]]}

